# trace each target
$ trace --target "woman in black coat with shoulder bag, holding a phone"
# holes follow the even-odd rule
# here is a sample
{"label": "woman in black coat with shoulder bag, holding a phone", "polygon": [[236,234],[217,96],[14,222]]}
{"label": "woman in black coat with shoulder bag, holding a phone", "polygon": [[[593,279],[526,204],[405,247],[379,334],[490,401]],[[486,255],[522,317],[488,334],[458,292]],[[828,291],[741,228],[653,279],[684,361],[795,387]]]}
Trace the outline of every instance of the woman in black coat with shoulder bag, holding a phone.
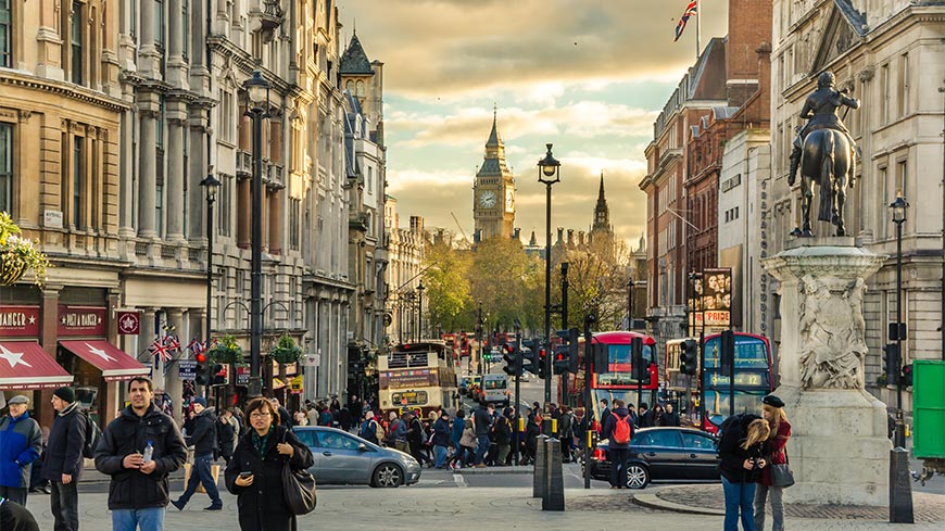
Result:
{"label": "woman in black coat with shoulder bag, holding a phone", "polygon": [[305,470],[315,459],[265,399],[247,406],[250,429],[240,437],[226,467],[226,486],[238,496],[241,531],[295,531],[295,514],[286,502],[282,468]]}

